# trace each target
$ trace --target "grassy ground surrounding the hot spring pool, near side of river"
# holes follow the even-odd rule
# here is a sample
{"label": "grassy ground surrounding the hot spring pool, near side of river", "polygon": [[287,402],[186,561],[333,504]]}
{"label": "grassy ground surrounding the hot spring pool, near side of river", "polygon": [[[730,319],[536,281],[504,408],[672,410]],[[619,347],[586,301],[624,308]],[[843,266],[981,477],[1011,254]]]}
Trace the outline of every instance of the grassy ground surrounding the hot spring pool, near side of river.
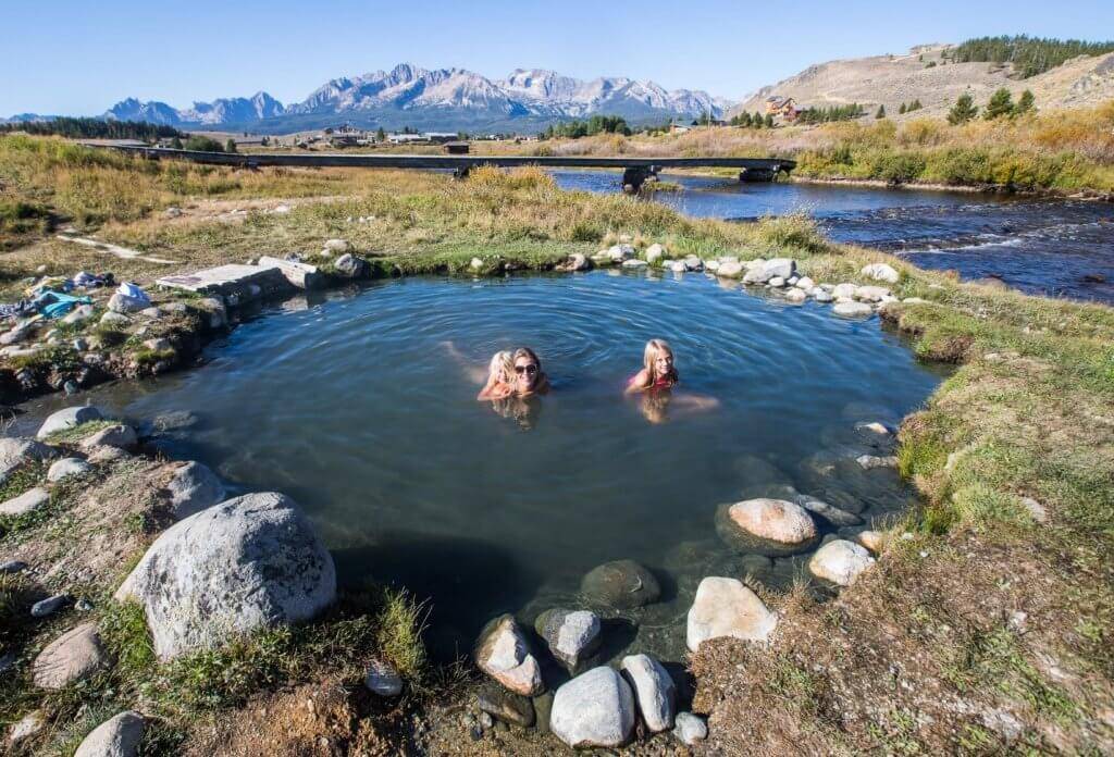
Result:
{"label": "grassy ground surrounding the hot spring pool, near side of river", "polygon": [[[908,334],[922,358],[957,365],[901,430],[901,468],[924,493],[924,507],[895,529],[878,564],[837,600],[817,604],[803,591],[780,598],[784,615],[772,648],[733,641],[702,647],[692,667],[696,708],[710,715],[706,748],[719,754],[1114,749],[1114,311],[961,284],[879,253],[829,244],[802,218],[754,225],[691,220],[625,197],[563,193],[537,171],[477,171],[467,183],[455,183],[394,171],[242,175],[212,169],[197,185],[208,189],[182,193],[167,188],[167,175],[189,169],[115,157],[121,163],[94,163],[88,171],[104,186],[131,184],[143,191],[117,205],[90,193],[84,205],[66,206],[52,191],[52,171],[82,184],[86,169],[74,160],[86,159],[85,151],[58,164],[51,157],[61,151],[57,147],[0,140],[0,150],[23,156],[18,180],[6,181],[10,199],[40,203],[59,216],[88,210],[88,230],[179,262],[117,260],[33,236],[0,256],[9,279],[37,265],[72,273],[92,260],[148,281],[167,268],[238,262],[264,252],[313,252],[333,236],[349,239],[358,254],[391,273],[459,271],[473,256],[491,268],[546,267],[570,252],[594,252],[614,233],[709,257],[785,254],[818,282],[861,281],[863,264],[889,262],[901,273],[896,294],[928,302],[891,305],[888,327]],[[219,187],[241,181],[251,186],[238,184],[222,194]],[[236,218],[211,213],[226,208],[214,203],[253,199],[250,193],[275,201],[316,194],[317,201],[291,204],[284,214],[268,212],[267,204]],[[189,213],[162,217],[169,205]],[[105,208],[116,209],[98,218]],[[120,474],[111,469],[106,482]],[[92,497],[82,501],[99,503],[96,508],[60,499],[58,511],[78,520],[25,524],[4,532],[0,547],[13,557],[65,550],[65,556],[46,552],[49,557],[39,561],[51,566],[65,557],[77,574],[89,559],[72,553],[89,551],[85,534],[125,534],[119,550],[127,557],[96,573],[101,593],[95,596],[108,596],[119,566],[135,560],[153,537],[145,524],[157,522],[134,515],[143,499],[127,492],[148,491],[150,484],[146,476],[128,475],[131,489],[121,489],[120,481],[115,489],[87,491]],[[92,529],[81,520],[90,513],[109,520],[95,521],[99,529]],[[52,573],[48,587],[12,584],[0,597],[0,608],[25,607],[32,590],[72,589],[70,574]],[[274,734],[265,729],[260,706],[245,704],[250,692],[280,715],[287,711],[284,697],[304,701],[307,691],[328,694],[345,722],[373,730],[392,722],[390,716],[361,698],[363,659],[333,646],[330,633],[346,628],[352,633],[344,638],[358,648],[382,651],[387,645],[374,629],[413,628],[384,620],[387,607],[342,606],[321,625],[245,641],[242,651],[251,653],[234,647],[190,663],[179,679],[152,661],[134,610],[98,603],[97,615],[114,629],[109,638],[118,640],[111,643],[125,661],[115,678],[67,690],[56,701],[53,695],[28,690],[21,674],[12,679],[21,682],[3,694],[0,714],[11,721],[31,708],[47,708],[51,727],[40,746],[57,754],[72,744],[66,738],[95,725],[87,720],[91,712],[104,714],[98,708],[105,702],[149,708],[165,718],[165,728],[156,731],[164,741],[153,748],[195,738],[221,744],[222,735],[253,728]],[[9,617],[17,616],[22,618],[19,611]],[[12,620],[6,649],[18,645],[25,666],[19,670],[26,670],[35,649],[74,621],[66,615],[58,626],[30,629],[22,619]],[[338,625],[343,622],[352,625]],[[260,643],[274,653],[252,646]],[[344,661],[339,678],[319,665],[333,655]],[[229,679],[238,687],[231,695]],[[169,704],[164,690],[173,695]],[[297,711],[304,714],[304,707]],[[303,718],[296,728],[312,744],[333,721]],[[456,717],[434,724],[432,743],[470,749],[473,743],[457,724]],[[417,733],[409,720],[404,727],[411,736]],[[356,744],[356,736],[350,737],[345,744]],[[550,737],[535,733],[497,738],[485,737],[476,751],[557,748]],[[297,751],[287,741],[274,754]]]}

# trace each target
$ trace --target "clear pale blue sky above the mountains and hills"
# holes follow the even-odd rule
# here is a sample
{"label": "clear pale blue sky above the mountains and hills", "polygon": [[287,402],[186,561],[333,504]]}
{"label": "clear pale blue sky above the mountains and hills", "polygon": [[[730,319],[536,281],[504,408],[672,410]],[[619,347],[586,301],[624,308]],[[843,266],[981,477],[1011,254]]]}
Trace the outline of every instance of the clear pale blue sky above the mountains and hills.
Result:
{"label": "clear pale blue sky above the mountains and hills", "polygon": [[260,89],[290,102],[401,61],[741,98],[813,62],[1019,32],[1111,38],[1114,2],[13,2],[0,22],[0,115],[96,115],[129,96],[185,107]]}

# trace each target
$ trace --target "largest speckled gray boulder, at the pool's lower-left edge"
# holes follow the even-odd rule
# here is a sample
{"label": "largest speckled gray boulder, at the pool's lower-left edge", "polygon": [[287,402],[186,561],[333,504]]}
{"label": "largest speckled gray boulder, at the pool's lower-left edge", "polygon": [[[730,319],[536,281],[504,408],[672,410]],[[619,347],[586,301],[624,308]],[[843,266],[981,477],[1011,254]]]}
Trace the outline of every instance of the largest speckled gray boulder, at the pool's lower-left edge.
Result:
{"label": "largest speckled gray boulder, at the pool's lower-left edge", "polygon": [[163,660],[307,620],[335,596],[332,556],[297,504],[274,492],[174,524],[116,592],[117,601],[143,606]]}

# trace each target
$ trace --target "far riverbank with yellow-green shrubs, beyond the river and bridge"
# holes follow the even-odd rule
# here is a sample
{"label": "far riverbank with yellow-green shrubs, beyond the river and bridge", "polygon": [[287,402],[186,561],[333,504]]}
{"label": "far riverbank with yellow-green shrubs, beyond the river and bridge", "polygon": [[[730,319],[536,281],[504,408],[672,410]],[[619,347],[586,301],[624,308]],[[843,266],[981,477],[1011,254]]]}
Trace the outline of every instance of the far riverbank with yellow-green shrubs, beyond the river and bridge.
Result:
{"label": "far riverbank with yellow-green shrubs, beyond the river and bridge", "polygon": [[694,128],[683,135],[599,135],[490,146],[531,155],[765,157],[798,160],[795,176],[954,186],[1000,186],[1065,194],[1114,191],[1114,102],[950,126],[903,118],[788,126]]}

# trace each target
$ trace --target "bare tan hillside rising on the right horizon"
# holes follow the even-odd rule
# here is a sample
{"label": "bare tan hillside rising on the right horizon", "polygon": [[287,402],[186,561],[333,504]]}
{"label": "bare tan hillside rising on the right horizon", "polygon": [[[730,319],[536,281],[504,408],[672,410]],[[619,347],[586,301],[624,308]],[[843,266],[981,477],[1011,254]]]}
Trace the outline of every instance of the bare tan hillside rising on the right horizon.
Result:
{"label": "bare tan hillside rising on the right horizon", "polygon": [[[1005,87],[1016,96],[1029,89],[1038,108],[1094,106],[1114,98],[1114,52],[1081,56],[1043,73],[1023,78],[1025,70],[996,61],[952,62],[957,46],[935,43],[903,55],[833,60],[810,66],[775,85],[763,87],[732,108],[729,115],[762,110],[766,98],[791,97],[798,107],[830,107],[858,102],[873,117],[879,105],[890,118],[900,118],[902,102],[920,100],[918,116],[940,116],[964,92],[984,105]],[[968,48],[970,50],[970,48]],[[945,57],[947,56],[947,57]]]}

